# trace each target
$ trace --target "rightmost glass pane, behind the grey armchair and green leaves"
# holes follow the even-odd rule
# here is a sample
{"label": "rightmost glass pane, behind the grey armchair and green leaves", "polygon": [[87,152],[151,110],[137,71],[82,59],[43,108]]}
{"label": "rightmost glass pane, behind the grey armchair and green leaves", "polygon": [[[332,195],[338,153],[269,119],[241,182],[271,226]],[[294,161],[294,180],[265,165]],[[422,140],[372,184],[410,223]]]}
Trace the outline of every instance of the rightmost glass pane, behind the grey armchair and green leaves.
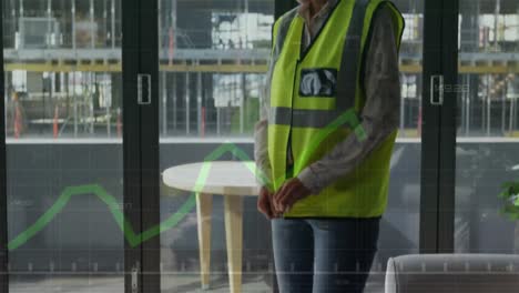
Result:
{"label": "rightmost glass pane, behind the grey armchair and green leaves", "polygon": [[[457,252],[517,253],[519,229],[498,195],[519,182],[519,3],[460,6],[456,173]],[[516,54],[516,55],[515,55]],[[513,195],[513,194],[511,194]]]}

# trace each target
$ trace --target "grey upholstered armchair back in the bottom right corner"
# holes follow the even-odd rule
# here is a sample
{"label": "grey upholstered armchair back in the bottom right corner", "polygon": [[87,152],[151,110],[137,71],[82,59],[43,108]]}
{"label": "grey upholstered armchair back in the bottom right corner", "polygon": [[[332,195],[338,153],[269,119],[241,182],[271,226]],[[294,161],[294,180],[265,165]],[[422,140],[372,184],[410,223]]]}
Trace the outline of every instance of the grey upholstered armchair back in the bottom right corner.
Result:
{"label": "grey upholstered armchair back in the bottom right corner", "polygon": [[386,293],[512,292],[519,292],[519,255],[417,254],[387,263]]}

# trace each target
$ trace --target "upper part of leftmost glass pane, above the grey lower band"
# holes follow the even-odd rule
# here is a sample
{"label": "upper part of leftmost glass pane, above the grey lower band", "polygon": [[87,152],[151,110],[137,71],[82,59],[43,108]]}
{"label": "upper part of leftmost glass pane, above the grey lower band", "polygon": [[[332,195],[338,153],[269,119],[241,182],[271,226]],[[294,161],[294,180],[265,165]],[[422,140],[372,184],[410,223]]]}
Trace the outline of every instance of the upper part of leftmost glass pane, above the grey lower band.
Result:
{"label": "upper part of leftmost glass pane, above the grey lower band", "polygon": [[121,1],[2,4],[8,138],[121,138]]}

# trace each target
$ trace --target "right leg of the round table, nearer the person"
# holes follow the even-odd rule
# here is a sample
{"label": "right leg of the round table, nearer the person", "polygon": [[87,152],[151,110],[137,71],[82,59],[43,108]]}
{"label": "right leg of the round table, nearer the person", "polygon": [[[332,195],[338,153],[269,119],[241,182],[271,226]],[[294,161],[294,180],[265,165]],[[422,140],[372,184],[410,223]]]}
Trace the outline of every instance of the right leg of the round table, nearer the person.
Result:
{"label": "right leg of the round table, nearer the person", "polygon": [[242,292],[243,199],[224,196],[225,236],[231,293]]}

